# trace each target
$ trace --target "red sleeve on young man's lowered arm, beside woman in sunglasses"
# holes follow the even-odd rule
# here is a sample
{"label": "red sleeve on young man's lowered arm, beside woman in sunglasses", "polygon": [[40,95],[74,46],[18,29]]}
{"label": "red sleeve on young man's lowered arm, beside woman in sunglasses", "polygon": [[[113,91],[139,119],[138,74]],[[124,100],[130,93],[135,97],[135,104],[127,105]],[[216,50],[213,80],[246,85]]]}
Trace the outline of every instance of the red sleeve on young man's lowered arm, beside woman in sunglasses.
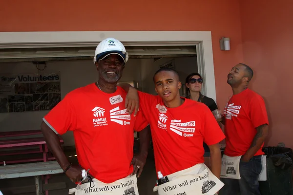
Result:
{"label": "red sleeve on young man's lowered arm, beside woman in sunglasses", "polygon": [[204,114],[204,121],[203,121],[204,142],[207,145],[213,145],[225,139],[225,135],[223,131],[219,127],[218,122],[216,121],[215,117],[210,112],[207,106],[204,107],[203,114]]}

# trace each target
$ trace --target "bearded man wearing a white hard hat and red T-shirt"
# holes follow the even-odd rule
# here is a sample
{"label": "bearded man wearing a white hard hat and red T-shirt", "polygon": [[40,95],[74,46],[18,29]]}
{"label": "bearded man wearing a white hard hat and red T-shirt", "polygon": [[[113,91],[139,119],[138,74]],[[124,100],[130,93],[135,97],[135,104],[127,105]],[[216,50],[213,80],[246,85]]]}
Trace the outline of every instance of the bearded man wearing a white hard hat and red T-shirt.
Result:
{"label": "bearded man wearing a white hard hat and red T-shirt", "polygon": [[[148,123],[140,111],[137,116],[126,111],[126,92],[117,87],[127,59],[119,40],[103,40],[94,58],[98,82],[69,92],[43,118],[46,143],[73,182],[82,179],[82,169],[104,183],[142,172],[150,142]],[[137,156],[133,156],[134,130],[141,131]],[[67,131],[73,131],[80,165],[71,165],[59,144],[57,134]]]}

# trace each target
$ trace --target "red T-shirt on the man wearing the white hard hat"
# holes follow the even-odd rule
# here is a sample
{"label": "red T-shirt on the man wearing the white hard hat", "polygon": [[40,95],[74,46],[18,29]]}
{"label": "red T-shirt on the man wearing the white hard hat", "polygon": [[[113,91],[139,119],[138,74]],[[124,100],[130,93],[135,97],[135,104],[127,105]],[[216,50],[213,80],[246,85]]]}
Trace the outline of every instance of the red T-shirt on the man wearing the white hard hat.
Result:
{"label": "red T-shirt on the man wearing the white hard hat", "polygon": [[125,98],[121,87],[107,94],[92,83],[68,93],[43,119],[60,135],[73,131],[80,165],[105,183],[133,171],[133,132],[148,124],[141,112],[126,113]]}

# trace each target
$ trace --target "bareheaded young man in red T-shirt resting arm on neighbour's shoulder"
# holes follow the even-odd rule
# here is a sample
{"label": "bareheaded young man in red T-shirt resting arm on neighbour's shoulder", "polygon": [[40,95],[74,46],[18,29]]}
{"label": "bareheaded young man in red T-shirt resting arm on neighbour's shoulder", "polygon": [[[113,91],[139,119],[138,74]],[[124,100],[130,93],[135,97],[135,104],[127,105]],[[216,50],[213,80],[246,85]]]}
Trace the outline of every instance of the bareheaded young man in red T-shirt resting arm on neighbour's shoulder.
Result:
{"label": "bareheaded young man in red T-shirt resting arm on neighbour's shoulder", "polygon": [[127,98],[131,101],[139,97],[140,110],[151,127],[157,172],[168,176],[204,163],[205,141],[210,149],[211,171],[220,178],[218,143],[225,136],[209,108],[201,102],[180,97],[181,82],[175,70],[162,68],[153,80],[158,96],[139,92],[127,84],[122,87],[128,91]]}

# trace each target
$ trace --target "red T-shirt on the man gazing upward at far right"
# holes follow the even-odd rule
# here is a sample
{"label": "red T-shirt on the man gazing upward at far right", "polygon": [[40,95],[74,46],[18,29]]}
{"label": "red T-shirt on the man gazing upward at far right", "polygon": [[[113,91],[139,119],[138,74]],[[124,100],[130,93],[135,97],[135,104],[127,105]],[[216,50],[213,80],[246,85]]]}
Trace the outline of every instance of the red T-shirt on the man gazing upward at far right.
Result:
{"label": "red T-shirt on the man gazing upward at far right", "polygon": [[[269,124],[263,98],[246,89],[233,95],[224,109],[227,156],[242,156],[250,148],[256,127]],[[263,155],[262,147],[254,156]]]}

